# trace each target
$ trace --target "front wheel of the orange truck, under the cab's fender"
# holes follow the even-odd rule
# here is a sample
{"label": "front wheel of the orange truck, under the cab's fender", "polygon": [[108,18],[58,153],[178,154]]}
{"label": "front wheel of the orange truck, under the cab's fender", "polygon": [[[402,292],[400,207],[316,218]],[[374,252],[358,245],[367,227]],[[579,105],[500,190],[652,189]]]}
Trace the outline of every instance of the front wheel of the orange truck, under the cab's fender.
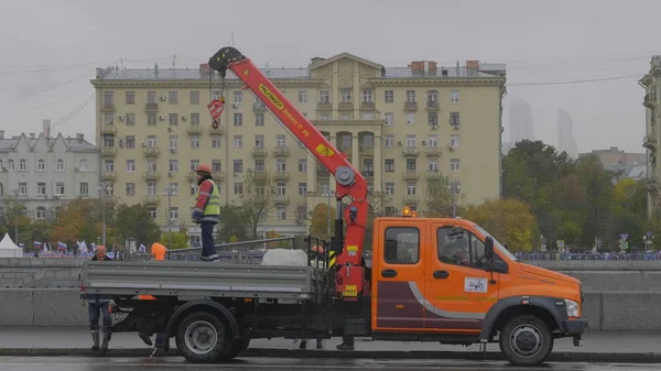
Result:
{"label": "front wheel of the orange truck, under the cab's fender", "polygon": [[553,350],[553,336],[535,316],[510,319],[499,336],[500,351],[514,365],[539,365]]}

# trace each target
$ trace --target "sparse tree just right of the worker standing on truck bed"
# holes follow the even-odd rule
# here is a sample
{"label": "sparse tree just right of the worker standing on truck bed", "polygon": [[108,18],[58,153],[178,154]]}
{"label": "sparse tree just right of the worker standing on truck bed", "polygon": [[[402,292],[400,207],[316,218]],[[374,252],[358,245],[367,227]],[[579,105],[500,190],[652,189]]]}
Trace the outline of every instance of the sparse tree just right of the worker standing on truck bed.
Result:
{"label": "sparse tree just right of the worker standing on truck bed", "polygon": [[243,175],[240,205],[249,226],[250,238],[258,238],[257,229],[269,220],[274,207],[275,184],[267,171],[249,171]]}

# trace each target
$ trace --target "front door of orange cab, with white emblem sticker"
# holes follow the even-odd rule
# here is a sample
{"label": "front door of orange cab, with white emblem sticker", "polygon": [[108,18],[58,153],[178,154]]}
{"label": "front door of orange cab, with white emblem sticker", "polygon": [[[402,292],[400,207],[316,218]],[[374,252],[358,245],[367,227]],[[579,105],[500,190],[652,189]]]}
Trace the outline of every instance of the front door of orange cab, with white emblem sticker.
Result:
{"label": "front door of orange cab, with white emblem sticker", "polygon": [[425,274],[425,328],[479,331],[498,301],[498,274],[481,268],[484,240],[466,227],[432,223]]}

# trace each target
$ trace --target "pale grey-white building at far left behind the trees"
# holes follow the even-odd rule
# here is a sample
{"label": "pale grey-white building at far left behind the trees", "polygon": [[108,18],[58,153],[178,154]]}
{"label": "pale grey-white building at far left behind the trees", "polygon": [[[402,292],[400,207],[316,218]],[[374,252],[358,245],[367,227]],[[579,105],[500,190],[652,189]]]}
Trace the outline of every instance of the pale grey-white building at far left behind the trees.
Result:
{"label": "pale grey-white building at far left behind the trees", "polygon": [[48,134],[4,138],[0,130],[0,197],[18,199],[36,220],[52,218],[64,201],[99,197],[98,148],[83,134]]}

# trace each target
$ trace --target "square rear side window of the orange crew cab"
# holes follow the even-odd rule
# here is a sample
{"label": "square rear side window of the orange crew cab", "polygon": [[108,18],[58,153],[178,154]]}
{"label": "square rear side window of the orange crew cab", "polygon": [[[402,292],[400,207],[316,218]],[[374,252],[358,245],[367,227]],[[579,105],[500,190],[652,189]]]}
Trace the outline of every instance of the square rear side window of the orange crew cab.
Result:
{"label": "square rear side window of the orange crew cab", "polygon": [[420,231],[411,227],[386,229],[383,259],[388,264],[415,264],[420,261]]}

